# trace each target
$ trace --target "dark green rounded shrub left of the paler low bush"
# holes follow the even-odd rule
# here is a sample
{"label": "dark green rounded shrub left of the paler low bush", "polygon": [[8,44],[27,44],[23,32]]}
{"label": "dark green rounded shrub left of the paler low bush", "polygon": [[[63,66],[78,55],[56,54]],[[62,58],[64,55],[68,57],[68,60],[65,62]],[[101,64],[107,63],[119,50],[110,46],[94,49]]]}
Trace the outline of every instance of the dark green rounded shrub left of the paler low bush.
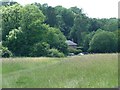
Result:
{"label": "dark green rounded shrub left of the paler low bush", "polygon": [[31,54],[30,54],[30,56],[34,56],[34,57],[47,56],[49,48],[50,48],[50,46],[46,42],[36,43],[31,48]]}

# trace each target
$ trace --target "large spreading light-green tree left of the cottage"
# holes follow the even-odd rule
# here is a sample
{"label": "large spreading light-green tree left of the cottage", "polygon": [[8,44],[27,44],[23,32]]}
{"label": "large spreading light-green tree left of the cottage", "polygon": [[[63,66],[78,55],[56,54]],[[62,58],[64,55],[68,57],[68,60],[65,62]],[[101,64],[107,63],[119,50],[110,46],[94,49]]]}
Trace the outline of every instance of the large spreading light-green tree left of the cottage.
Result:
{"label": "large spreading light-green tree left of the cottage", "polygon": [[35,54],[46,56],[37,52],[40,49],[46,50],[47,44],[50,48],[54,47],[63,53],[67,52],[65,36],[59,29],[44,24],[45,16],[37,6],[26,5],[21,9],[21,15],[21,27],[12,29],[7,35],[7,47],[15,56],[35,56]]}

